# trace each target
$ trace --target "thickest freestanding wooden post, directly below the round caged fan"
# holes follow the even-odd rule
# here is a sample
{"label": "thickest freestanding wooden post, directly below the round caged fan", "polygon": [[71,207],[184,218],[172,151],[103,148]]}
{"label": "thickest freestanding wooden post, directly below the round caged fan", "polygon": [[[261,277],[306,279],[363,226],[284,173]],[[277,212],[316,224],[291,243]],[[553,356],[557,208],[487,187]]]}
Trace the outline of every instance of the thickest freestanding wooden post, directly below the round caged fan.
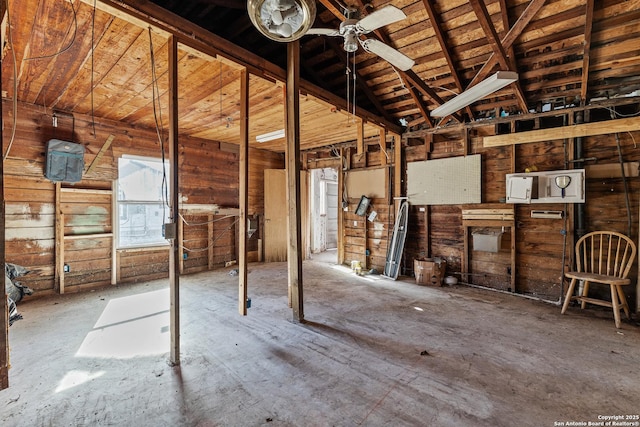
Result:
{"label": "thickest freestanding wooden post, directly below the round caged fan", "polygon": [[289,286],[293,320],[304,321],[300,198],[300,41],[287,44],[286,139]]}

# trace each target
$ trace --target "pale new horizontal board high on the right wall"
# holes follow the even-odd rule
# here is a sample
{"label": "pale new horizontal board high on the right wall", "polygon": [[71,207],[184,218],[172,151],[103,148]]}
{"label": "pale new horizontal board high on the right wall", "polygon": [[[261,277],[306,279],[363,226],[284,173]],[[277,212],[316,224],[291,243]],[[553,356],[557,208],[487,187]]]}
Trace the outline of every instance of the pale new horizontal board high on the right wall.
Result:
{"label": "pale new horizontal board high on the right wall", "polygon": [[624,119],[606,120],[603,122],[562,126],[558,128],[538,129],[528,132],[485,136],[482,143],[484,147],[501,147],[512,144],[555,141],[565,138],[579,138],[584,136],[606,135],[614,134],[616,132],[631,132],[638,130],[640,130],[640,117],[629,117]]}

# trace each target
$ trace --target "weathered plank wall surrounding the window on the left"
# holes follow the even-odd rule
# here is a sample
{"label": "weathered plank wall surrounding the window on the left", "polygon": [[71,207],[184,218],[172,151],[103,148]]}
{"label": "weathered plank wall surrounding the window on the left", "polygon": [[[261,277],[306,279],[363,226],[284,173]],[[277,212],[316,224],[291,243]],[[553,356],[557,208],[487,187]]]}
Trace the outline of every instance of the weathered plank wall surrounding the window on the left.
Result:
{"label": "weathered plank wall surrounding the window on the left", "polygon": [[[5,103],[3,112],[6,150],[13,123],[11,105]],[[160,156],[160,145],[153,130],[102,121],[95,123],[94,134],[90,117],[78,115],[75,121],[59,115],[58,127],[54,128],[52,114],[51,110],[42,107],[18,105],[16,138],[5,162],[7,262],[29,268],[32,272],[22,282],[39,292],[54,289],[55,187],[43,176],[46,141],[58,138],[82,143],[88,166],[109,135],[115,136],[91,174],[85,175],[79,183],[65,184],[74,189],[110,190],[112,180],[117,178],[117,158],[123,154]],[[281,154],[252,149],[249,161],[250,213],[260,216],[264,213],[263,170],[282,168],[284,159]],[[185,203],[237,208],[238,154],[235,146],[181,138],[179,164],[180,192]],[[65,213],[65,234],[111,232],[109,197],[99,191],[66,194],[61,204]],[[203,223],[208,216],[194,215],[186,219],[190,223]],[[219,267],[236,259],[235,218],[216,216],[215,220],[213,266]],[[206,248],[208,232],[206,225],[185,227],[184,245],[196,250]],[[109,284],[111,252],[108,237],[67,239],[65,263],[70,272],[65,275],[65,290]],[[166,248],[118,251],[117,257],[119,283],[167,277]],[[207,251],[194,251],[188,253],[184,271],[201,271],[208,266]]]}

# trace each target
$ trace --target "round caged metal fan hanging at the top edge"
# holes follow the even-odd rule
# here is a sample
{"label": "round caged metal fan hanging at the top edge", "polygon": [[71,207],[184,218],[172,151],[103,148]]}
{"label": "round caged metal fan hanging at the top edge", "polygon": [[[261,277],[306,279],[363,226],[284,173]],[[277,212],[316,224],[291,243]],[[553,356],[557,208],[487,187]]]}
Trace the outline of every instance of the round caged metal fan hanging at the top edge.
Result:
{"label": "round caged metal fan hanging at the top edge", "polygon": [[247,0],[253,25],[277,42],[297,40],[313,25],[315,0]]}

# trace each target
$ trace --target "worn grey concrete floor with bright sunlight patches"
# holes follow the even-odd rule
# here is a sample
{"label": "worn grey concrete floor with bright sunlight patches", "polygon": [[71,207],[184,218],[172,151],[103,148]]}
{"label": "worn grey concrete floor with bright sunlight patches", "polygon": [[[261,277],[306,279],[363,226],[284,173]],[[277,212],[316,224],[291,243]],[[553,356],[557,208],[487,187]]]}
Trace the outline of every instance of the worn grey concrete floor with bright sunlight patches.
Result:
{"label": "worn grey concrete floor with bright sunlight patches", "polygon": [[0,425],[558,426],[640,412],[635,322],[322,260],[304,263],[305,324],[284,263],[250,266],[246,317],[229,269],[183,277],[179,367],[167,281],[23,301]]}

